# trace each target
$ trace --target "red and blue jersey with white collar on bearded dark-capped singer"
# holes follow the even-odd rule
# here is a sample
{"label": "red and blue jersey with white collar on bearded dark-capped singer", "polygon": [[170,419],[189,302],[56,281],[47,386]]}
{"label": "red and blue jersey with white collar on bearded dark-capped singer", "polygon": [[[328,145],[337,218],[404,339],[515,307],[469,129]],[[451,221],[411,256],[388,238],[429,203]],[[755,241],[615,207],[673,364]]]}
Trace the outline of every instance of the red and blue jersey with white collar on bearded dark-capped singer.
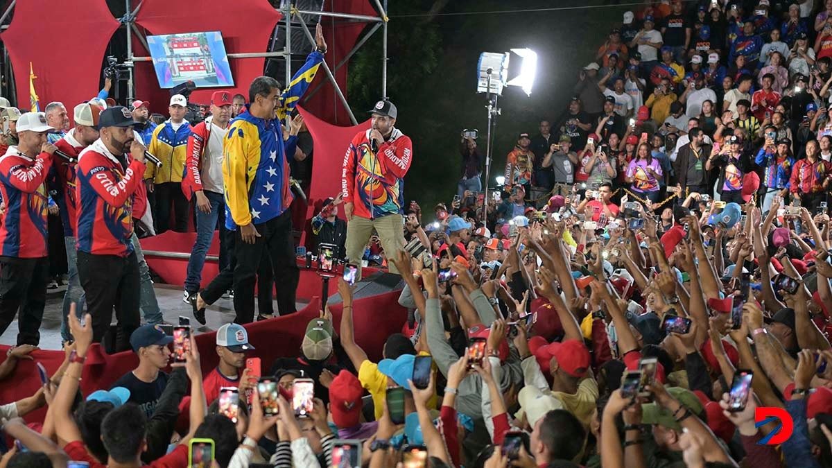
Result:
{"label": "red and blue jersey with white collar on bearded dark-capped singer", "polygon": [[133,251],[133,193],[141,184],[145,164],[128,154],[122,158],[123,165],[101,139],[78,158],[78,251],[116,256]]}

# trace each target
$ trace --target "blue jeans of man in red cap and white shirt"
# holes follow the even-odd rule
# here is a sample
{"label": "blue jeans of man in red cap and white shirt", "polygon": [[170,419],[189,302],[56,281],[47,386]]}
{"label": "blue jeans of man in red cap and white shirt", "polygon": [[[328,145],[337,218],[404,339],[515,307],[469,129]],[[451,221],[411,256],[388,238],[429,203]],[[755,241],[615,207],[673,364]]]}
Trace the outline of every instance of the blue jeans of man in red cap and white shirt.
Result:
{"label": "blue jeans of man in red cap and white shirt", "polygon": [[[194,293],[200,290],[202,281],[202,267],[206,264],[206,255],[210,241],[216,231],[217,220],[220,221],[220,230],[225,225],[225,200],[221,193],[205,191],[210,202],[210,213],[201,212],[199,207],[196,210],[196,242],[191,249],[191,258],[188,259],[188,272],[185,278],[185,291]],[[225,236],[220,232],[220,271],[223,269],[225,258]]]}

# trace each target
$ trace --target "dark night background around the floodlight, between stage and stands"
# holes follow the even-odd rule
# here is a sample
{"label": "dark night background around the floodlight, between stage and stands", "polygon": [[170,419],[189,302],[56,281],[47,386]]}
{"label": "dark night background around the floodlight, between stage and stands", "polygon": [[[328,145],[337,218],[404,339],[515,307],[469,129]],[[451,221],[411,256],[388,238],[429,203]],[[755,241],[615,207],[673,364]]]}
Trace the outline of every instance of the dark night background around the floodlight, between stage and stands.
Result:
{"label": "dark night background around the floodlight, between stage and stands", "polygon": [[[396,127],[414,142],[414,162],[404,179],[404,196],[405,203],[416,200],[422,207],[423,222],[432,222],[433,206],[449,203],[457,191],[461,167],[458,145],[463,128],[478,128],[478,146],[484,159],[488,115],[485,96],[476,92],[479,54],[528,47],[538,57],[531,97],[519,87],[506,87],[498,101],[503,114],[498,117],[494,134],[488,184],[493,187],[494,177],[503,173],[506,155],[516,144],[518,133],[534,136],[541,118],[557,120],[572,97],[580,69],[594,60],[609,30],[620,26],[623,13],[632,8],[606,5],[608,2],[389,2],[388,94],[399,107]],[[580,8],[472,14],[552,7]],[[430,11],[440,14],[402,17]],[[350,63],[348,97],[359,121],[380,98],[381,42],[377,33]]]}

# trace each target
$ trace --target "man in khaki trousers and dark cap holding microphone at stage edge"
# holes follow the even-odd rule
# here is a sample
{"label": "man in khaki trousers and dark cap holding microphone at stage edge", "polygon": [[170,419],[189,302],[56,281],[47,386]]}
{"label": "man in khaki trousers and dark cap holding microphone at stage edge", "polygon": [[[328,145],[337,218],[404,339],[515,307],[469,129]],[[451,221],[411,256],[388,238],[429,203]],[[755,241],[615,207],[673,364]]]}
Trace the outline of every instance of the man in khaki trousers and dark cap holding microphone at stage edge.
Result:
{"label": "man in khaki trousers and dark cap holding microphone at stage edge", "polygon": [[[372,127],[349,143],[341,176],[348,221],[347,258],[353,262],[361,260],[374,229],[387,255],[393,256],[404,246],[404,175],[413,161],[413,143],[394,127],[399,111],[393,102],[376,102],[370,113]],[[389,270],[399,272],[394,265]]]}

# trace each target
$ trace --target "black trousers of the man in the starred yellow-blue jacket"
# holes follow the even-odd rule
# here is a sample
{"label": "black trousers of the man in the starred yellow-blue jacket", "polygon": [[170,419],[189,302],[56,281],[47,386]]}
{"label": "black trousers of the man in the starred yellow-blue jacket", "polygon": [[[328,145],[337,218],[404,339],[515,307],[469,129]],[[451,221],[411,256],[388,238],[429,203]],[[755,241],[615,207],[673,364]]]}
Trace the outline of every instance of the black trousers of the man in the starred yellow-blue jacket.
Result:
{"label": "black trousers of the man in the starred yellow-blue jacket", "polygon": [[260,237],[248,244],[235,235],[234,310],[235,323],[249,323],[255,316],[255,281],[260,261],[271,261],[277,288],[277,307],[280,315],[295,312],[295,290],[300,269],[295,261],[295,242],[292,241],[292,218],[287,210],[279,217],[255,224]]}

